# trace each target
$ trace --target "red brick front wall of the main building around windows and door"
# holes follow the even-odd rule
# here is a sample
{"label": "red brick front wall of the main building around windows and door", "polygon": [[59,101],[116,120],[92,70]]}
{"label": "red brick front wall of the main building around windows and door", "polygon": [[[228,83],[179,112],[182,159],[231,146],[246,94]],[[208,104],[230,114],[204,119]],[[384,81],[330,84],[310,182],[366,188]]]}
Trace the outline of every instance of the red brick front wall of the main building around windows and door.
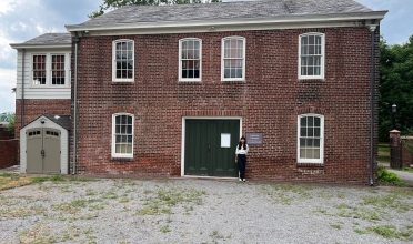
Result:
{"label": "red brick front wall of the main building around windows and door", "polygon": [[[299,34],[313,31],[318,30],[82,38],[79,173],[178,176],[182,116],[236,115],[243,119],[243,134],[262,132],[264,138],[262,146],[251,146],[248,179],[367,184],[371,32],[363,27],[325,29],[325,79],[300,81]],[[246,39],[245,82],[221,82],[221,39],[230,35]],[[379,37],[376,31],[376,68]],[[202,39],[201,83],[178,82],[182,38]],[[117,39],[134,40],[133,83],[112,82]],[[377,83],[376,79],[376,101]],[[134,157],[112,159],[112,113],[127,111],[135,115]],[[314,111],[324,115],[324,164],[299,165],[296,118]],[[376,133],[374,138],[376,144]]]}

